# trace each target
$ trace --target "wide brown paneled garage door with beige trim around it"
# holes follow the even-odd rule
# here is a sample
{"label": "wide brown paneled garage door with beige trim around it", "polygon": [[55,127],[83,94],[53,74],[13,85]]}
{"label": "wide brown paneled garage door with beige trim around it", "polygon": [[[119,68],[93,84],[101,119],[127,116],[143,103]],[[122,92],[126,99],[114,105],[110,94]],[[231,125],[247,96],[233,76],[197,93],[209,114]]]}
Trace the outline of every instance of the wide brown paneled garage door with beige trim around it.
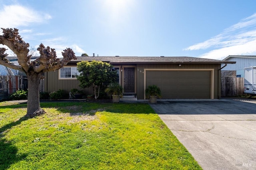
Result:
{"label": "wide brown paneled garage door with beige trim around it", "polygon": [[210,71],[146,71],[146,87],[160,87],[162,99],[209,99]]}

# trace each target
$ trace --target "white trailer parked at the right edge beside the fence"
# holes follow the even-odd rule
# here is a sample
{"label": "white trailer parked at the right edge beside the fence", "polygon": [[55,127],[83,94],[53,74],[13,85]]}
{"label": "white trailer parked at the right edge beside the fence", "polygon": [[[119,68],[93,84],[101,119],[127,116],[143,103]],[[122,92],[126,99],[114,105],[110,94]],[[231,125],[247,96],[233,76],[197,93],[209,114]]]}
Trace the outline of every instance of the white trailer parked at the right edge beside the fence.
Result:
{"label": "white trailer parked at the right edge beside the fence", "polygon": [[244,68],[244,93],[256,94],[256,66]]}

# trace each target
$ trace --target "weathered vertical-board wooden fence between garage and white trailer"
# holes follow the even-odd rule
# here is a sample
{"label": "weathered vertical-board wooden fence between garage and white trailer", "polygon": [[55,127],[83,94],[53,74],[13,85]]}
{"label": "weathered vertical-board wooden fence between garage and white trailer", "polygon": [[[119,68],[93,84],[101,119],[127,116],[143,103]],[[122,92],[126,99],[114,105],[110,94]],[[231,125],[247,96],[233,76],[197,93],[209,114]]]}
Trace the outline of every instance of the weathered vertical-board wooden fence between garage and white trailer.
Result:
{"label": "weathered vertical-board wooden fence between garage and white trailer", "polygon": [[222,77],[221,78],[221,96],[235,97],[244,94],[244,78],[240,77]]}

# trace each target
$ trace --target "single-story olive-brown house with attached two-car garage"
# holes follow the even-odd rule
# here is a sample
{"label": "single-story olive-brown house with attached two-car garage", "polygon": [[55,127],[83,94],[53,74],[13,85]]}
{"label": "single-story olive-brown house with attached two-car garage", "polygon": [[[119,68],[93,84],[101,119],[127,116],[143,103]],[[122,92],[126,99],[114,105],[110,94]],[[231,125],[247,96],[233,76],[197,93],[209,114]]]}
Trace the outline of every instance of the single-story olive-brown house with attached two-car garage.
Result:
{"label": "single-story olive-brown house with attached two-car garage", "polygon": [[221,64],[235,63],[195,57],[78,57],[64,68],[45,73],[45,91],[78,88],[94,94],[93,88],[78,86],[76,63],[84,60],[112,64],[124,94],[136,94],[138,99],[145,99],[144,91],[151,84],[160,87],[163,99],[219,99]]}

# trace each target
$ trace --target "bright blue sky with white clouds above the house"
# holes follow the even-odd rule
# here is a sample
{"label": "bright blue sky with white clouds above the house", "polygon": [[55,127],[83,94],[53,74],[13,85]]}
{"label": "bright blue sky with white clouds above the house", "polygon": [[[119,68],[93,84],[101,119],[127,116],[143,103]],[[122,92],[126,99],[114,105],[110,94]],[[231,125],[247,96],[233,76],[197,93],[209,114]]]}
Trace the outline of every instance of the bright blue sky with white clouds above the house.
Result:
{"label": "bright blue sky with white clouds above the house", "polygon": [[[0,0],[0,27],[58,57],[256,55],[255,0]],[[10,53],[10,50],[8,50]]]}

